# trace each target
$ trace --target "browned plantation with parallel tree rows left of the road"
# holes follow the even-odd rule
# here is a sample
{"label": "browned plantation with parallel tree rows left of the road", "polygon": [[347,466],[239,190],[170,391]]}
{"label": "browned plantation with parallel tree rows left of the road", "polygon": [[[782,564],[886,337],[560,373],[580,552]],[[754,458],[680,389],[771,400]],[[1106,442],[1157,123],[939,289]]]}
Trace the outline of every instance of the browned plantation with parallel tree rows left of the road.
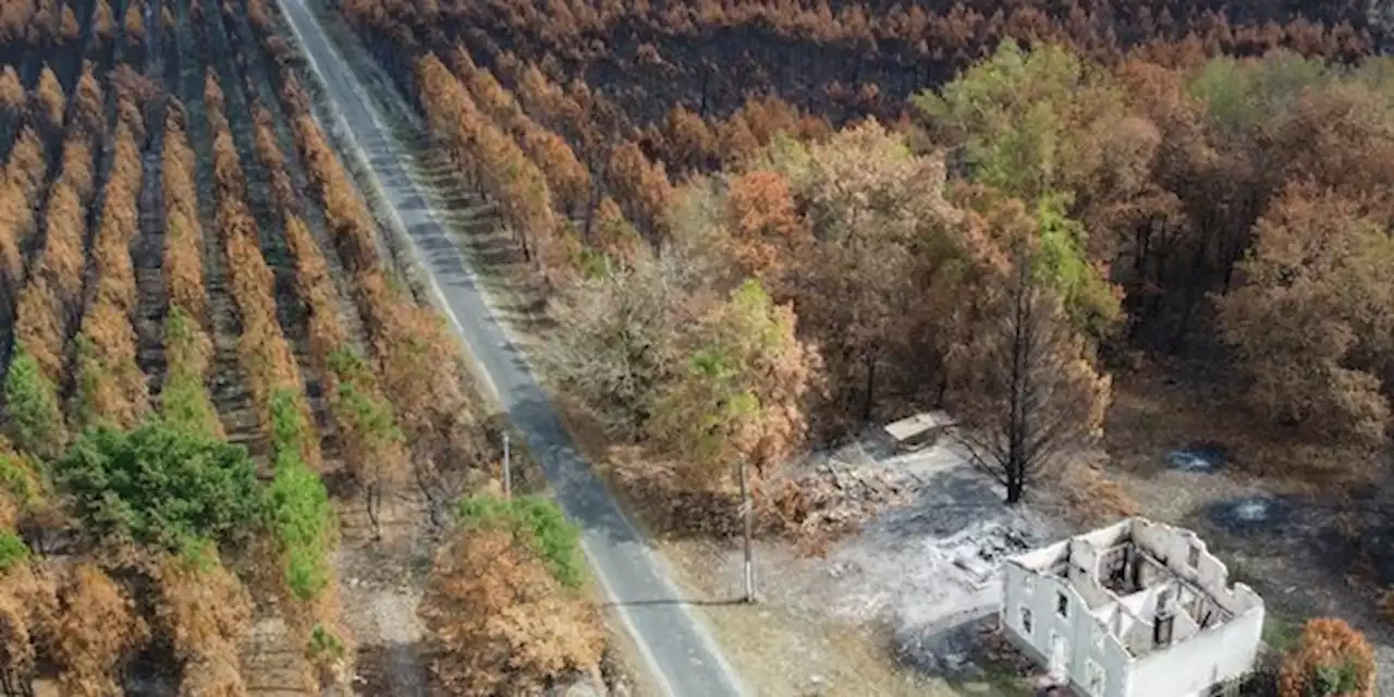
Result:
{"label": "browned plantation with parallel tree rows left of the road", "polygon": [[454,339],[386,252],[273,4],[0,18],[0,689],[346,687],[343,559],[403,524],[385,500],[447,506],[439,482],[495,457]]}

